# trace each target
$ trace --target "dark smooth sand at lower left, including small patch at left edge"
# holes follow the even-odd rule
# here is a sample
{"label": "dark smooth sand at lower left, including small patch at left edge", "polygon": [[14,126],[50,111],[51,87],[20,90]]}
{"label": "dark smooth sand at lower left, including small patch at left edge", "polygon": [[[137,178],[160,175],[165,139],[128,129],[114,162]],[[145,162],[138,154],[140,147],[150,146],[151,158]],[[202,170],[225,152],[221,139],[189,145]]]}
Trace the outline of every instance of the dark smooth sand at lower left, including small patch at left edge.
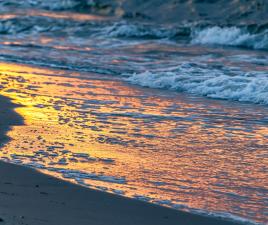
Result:
{"label": "dark smooth sand at lower left, including small patch at left edge", "polygon": [[[0,98],[1,141],[23,124],[8,99]],[[8,225],[231,225],[235,223],[87,189],[23,166],[0,162],[0,224]]]}

